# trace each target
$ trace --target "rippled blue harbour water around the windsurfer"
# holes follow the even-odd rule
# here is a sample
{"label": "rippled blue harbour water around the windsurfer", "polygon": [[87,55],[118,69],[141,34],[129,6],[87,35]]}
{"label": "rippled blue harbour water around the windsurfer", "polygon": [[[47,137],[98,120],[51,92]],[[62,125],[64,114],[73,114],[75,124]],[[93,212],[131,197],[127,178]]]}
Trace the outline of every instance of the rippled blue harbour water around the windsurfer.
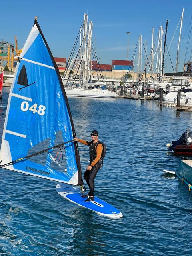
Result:
{"label": "rippled blue harbour water around the windsurfer", "polygon": [[[6,106],[8,88],[4,88]],[[166,144],[192,113],[156,101],[69,98],[79,138],[94,129],[107,145],[96,195],[124,215],[109,219],[64,200],[57,182],[0,169],[0,255],[190,255],[192,192],[161,169],[178,170]],[[0,108],[0,139],[6,108]],[[88,147],[80,144],[82,170]]]}

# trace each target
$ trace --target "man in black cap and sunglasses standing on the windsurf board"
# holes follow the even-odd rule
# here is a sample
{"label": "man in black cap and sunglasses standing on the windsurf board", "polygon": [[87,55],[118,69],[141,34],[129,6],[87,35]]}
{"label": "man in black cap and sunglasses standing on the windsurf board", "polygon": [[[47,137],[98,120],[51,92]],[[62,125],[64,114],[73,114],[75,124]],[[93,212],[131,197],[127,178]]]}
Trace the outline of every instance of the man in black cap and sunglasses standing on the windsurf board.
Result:
{"label": "man in black cap and sunglasses standing on the windsurf board", "polygon": [[79,138],[75,138],[75,141],[78,141],[84,145],[90,146],[89,147],[90,164],[87,166],[83,176],[90,190],[88,192],[88,198],[85,200],[86,202],[94,200],[94,190],[95,190],[94,179],[98,173],[98,170],[101,168],[101,156],[102,156],[103,146],[101,142],[98,140],[98,138],[99,138],[99,133],[97,130],[94,130],[91,133],[92,141],[85,141]]}

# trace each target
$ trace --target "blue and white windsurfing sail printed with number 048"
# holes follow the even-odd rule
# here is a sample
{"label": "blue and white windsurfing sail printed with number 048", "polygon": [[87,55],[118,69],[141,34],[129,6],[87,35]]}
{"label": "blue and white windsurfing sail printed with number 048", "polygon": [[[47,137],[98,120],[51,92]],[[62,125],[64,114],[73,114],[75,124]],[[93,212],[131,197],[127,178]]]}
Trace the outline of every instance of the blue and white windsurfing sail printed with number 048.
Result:
{"label": "blue and white windsurfing sail printed with number 048", "polygon": [[[26,40],[10,89],[0,150],[1,165],[75,138],[62,80],[38,22]],[[58,148],[60,164],[49,150],[4,168],[73,185],[82,184],[76,142]]]}

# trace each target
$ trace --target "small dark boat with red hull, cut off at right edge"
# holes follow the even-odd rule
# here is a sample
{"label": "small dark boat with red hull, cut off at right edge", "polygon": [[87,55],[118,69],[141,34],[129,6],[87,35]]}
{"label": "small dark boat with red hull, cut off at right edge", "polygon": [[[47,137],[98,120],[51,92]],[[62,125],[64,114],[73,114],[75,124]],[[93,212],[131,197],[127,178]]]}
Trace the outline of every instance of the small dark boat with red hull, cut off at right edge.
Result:
{"label": "small dark boat with red hull, cut off at right edge", "polygon": [[192,156],[192,132],[187,129],[178,140],[173,140],[172,144],[168,143],[166,146],[174,154]]}

